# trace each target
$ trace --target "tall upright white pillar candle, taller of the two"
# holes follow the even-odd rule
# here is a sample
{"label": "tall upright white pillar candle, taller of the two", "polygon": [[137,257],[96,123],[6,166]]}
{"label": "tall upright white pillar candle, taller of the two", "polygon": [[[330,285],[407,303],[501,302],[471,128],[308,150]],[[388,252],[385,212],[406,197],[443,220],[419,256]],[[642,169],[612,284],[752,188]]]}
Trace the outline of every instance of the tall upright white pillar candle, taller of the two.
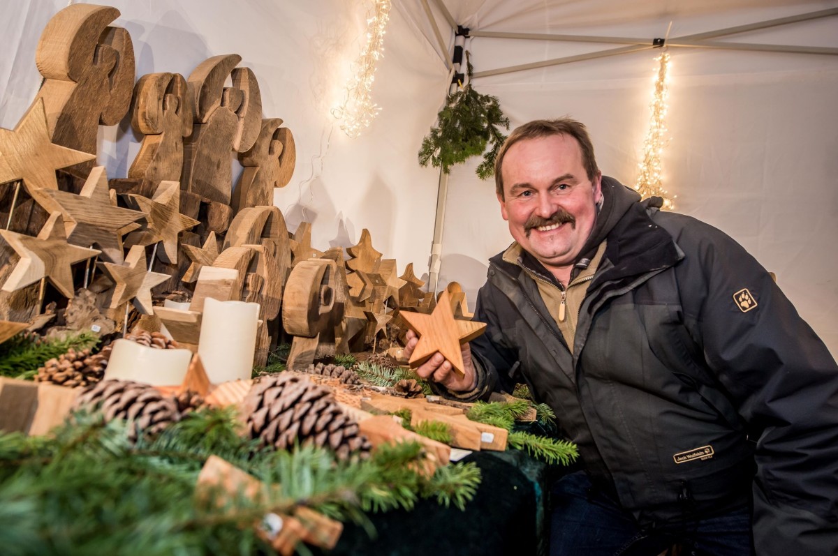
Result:
{"label": "tall upright white pillar candle, taller of the two", "polygon": [[251,378],[258,321],[258,303],[206,298],[198,353],[209,382]]}

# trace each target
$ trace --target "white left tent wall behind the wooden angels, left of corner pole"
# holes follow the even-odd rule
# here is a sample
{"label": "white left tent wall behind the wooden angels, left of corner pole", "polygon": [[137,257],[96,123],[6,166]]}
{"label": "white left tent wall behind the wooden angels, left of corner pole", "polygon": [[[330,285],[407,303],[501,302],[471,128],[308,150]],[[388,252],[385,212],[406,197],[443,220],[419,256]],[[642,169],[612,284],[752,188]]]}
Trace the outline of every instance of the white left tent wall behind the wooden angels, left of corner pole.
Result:
{"label": "white left tent wall behind the wooden angels, left of corner pole", "polygon": [[[131,33],[137,78],[152,72],[189,77],[204,59],[240,54],[259,80],[263,117],[279,117],[293,133],[297,166],[275,203],[288,229],[312,223],[312,245],[349,246],[370,229],[373,245],[401,270],[427,269],[438,172],[416,152],[447,90],[444,64],[416,25],[394,6],[373,97],[380,115],[355,139],[331,109],[346,93],[350,65],[365,43],[369,0],[103,0]],[[41,31],[65,0],[14,0],[0,6],[8,49],[0,56],[0,126],[12,128],[28,108],[41,76],[34,53]],[[99,163],[123,178],[139,151],[129,126],[101,127]],[[232,154],[232,153],[231,153]],[[234,179],[241,172],[232,162]]]}

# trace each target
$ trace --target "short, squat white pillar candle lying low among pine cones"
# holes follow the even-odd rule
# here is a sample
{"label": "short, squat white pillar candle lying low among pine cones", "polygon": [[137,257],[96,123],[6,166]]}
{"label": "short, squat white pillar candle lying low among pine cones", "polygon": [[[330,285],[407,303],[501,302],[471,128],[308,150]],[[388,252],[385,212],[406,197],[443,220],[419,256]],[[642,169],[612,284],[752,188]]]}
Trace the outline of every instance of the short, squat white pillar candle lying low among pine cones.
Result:
{"label": "short, squat white pillar candle lying low among pine cones", "polygon": [[113,342],[105,379],[173,386],[184,382],[191,360],[192,352],[188,349],[159,349],[120,338]]}

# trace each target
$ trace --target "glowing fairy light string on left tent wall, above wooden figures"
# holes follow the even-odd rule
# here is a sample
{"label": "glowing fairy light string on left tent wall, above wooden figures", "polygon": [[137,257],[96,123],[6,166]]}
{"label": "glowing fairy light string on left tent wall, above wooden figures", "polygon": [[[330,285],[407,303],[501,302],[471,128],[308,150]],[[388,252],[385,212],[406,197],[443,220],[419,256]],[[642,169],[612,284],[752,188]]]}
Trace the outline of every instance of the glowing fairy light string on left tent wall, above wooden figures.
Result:
{"label": "glowing fairy light string on left tent wall, above wooden figures", "polygon": [[371,92],[376,63],[384,56],[384,33],[390,8],[391,0],[375,0],[367,14],[366,44],[352,64],[354,75],[346,82],[344,103],[332,110],[335,118],[343,120],[340,129],[351,138],[370,126],[381,110],[373,102]]}

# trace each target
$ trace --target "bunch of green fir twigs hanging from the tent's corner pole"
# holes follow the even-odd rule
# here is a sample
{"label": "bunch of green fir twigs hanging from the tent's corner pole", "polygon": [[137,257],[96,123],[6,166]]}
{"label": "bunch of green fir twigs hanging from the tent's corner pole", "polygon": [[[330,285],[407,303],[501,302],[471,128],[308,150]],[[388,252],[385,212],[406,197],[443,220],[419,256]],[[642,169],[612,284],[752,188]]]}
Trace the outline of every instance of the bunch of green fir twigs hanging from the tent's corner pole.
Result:
{"label": "bunch of green fir twigs hanging from the tent's corner pole", "polygon": [[[422,139],[419,163],[427,166],[431,162],[433,167],[442,167],[442,172],[450,173],[454,164],[483,155],[476,173],[480,179],[487,179],[494,174],[494,159],[506,139],[498,127],[509,129],[510,119],[500,110],[498,97],[480,95],[472,87],[473,68],[468,52],[466,66],[468,83],[448,95],[446,105],[437,114],[436,126]],[[486,151],[489,144],[491,148]]]}

